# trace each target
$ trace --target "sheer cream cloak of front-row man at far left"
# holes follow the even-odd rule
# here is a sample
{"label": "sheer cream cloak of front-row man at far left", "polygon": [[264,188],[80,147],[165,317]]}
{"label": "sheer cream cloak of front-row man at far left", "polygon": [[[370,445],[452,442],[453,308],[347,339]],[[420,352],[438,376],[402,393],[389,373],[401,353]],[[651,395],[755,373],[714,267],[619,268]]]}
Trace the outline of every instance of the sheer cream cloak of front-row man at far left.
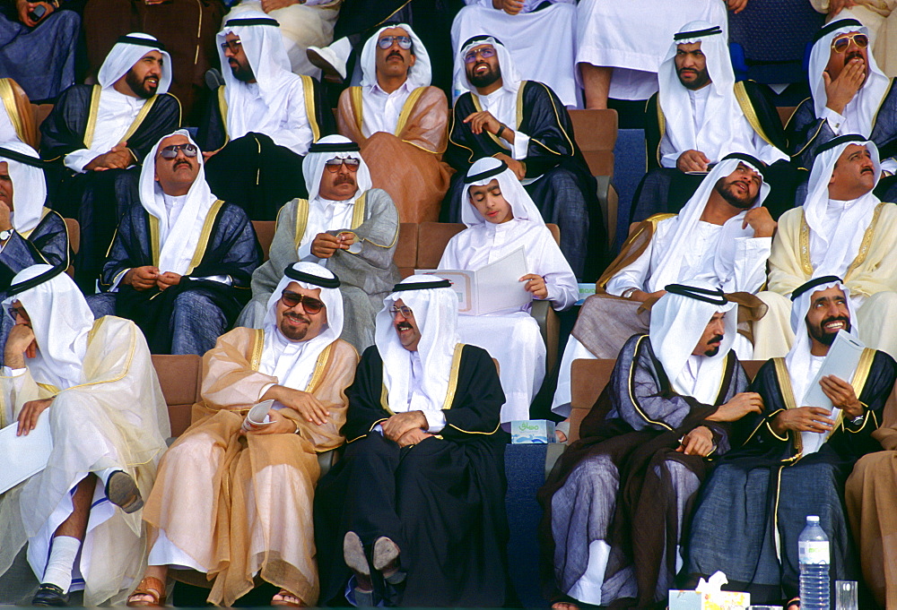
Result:
{"label": "sheer cream cloak of front-row man at far left", "polygon": [[[170,427],[150,350],[135,323],[114,316],[94,322],[83,373],[87,381],[63,391],[34,382],[27,371],[21,391],[14,390],[13,377],[0,377],[2,425],[11,424],[29,400],[56,397],[47,410],[53,434],[48,468],[0,495],[0,573],[110,448],[118,463],[102,468],[123,467],[144,498],[150,494]],[[105,497],[99,481],[97,487],[94,503]],[[140,512],[113,509],[96,527],[91,515],[80,563],[82,571],[87,568],[84,606],[123,603],[146,566]]]}

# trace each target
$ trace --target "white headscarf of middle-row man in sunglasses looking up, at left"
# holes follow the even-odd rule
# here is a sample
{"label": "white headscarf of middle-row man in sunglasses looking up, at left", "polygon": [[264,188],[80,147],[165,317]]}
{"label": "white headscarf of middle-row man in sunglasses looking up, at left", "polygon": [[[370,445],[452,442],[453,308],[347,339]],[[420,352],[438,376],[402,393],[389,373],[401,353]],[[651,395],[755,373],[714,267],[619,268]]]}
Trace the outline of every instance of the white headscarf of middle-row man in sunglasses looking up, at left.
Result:
{"label": "white headscarf of middle-row man in sunglasses looking up, at left", "polygon": [[[152,147],[152,152],[146,155],[144,167],[140,170],[140,202],[144,210],[159,219],[159,269],[162,272],[172,271],[184,275],[189,271],[190,262],[196,252],[196,245],[203,232],[205,217],[208,215],[212,204],[217,197],[212,194],[212,189],[205,182],[205,168],[203,166],[203,153],[196,146],[196,162],[199,163],[199,174],[190,190],[187,198],[181,206],[177,216],[172,218],[169,207],[165,204],[166,195],[162,187],[155,179],[156,154],[162,140],[172,135],[183,135],[194,146],[193,138],[186,129],[179,129],[174,133],[162,136],[159,142]],[[170,197],[170,196],[169,196]]]}

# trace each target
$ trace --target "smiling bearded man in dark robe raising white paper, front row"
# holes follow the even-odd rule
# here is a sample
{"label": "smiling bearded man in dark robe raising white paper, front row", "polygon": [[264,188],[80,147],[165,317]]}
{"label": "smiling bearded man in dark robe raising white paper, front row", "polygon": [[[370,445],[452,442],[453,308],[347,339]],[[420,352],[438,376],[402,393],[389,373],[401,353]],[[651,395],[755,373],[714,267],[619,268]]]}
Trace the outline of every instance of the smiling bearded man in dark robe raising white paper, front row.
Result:
{"label": "smiling bearded man in dark robe raising white paper, front row", "polygon": [[829,538],[830,578],[858,580],[844,479],[859,457],[881,451],[872,434],[897,375],[892,357],[856,339],[841,279],[811,279],[791,298],[794,347],[754,379],[762,412],[736,425],[741,446],[705,486],[686,561],[694,577],[725,572],[730,588],[759,604],[797,595],[797,537],[808,514]]}

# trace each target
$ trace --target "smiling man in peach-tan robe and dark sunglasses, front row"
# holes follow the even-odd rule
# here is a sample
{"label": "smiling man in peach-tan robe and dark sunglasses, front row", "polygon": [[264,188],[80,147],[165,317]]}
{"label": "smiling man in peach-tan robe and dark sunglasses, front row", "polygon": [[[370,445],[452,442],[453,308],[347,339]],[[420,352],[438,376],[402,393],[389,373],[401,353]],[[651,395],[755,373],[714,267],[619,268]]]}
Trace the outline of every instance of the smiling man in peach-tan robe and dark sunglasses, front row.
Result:
{"label": "smiling man in peach-tan robe and dark sunglasses, front row", "polygon": [[[280,588],[273,606],[318,601],[318,452],[343,443],[344,391],[358,363],[339,339],[339,284],[311,262],[287,267],[263,328],[234,329],[205,355],[194,423],[161,460],[144,509],[149,567],[128,606],[164,605],[172,571],[211,582],[216,606],[232,606],[256,577]],[[265,400],[274,401],[267,417],[248,421]]]}

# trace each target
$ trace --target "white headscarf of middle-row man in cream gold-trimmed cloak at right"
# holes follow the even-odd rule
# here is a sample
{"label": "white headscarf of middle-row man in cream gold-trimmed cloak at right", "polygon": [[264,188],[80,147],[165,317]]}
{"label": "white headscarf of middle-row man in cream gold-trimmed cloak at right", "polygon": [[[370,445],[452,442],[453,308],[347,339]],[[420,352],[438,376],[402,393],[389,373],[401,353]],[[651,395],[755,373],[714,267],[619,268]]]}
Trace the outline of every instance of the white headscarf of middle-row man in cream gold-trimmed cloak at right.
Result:
{"label": "white headscarf of middle-row man in cream gold-trimmed cloak at right", "polygon": [[847,271],[857,256],[869,223],[872,222],[875,206],[880,202],[878,197],[869,191],[853,202],[840,202],[844,204],[840,219],[833,223],[826,222],[825,212],[830,205],[829,180],[832,178],[835,163],[850,144],[866,146],[875,167],[876,185],[882,174],[875,143],[867,141],[862,136],[842,135],[820,147],[810,170],[803,206],[806,225],[810,228],[810,256],[812,259],[822,259],[822,262],[816,265],[815,275],[842,276]]}

